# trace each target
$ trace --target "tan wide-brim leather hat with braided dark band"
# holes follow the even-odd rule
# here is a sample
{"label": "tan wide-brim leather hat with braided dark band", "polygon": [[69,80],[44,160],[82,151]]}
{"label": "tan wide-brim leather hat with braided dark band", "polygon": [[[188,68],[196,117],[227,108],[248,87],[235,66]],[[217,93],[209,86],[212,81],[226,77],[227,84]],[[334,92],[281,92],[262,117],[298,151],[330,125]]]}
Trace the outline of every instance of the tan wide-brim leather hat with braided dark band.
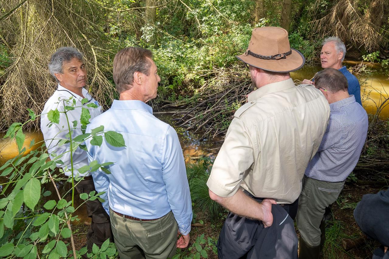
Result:
{"label": "tan wide-brim leather hat with braided dark band", "polygon": [[291,49],[288,32],[279,27],[253,29],[247,51],[236,57],[256,68],[279,73],[298,70],[305,64],[304,55]]}

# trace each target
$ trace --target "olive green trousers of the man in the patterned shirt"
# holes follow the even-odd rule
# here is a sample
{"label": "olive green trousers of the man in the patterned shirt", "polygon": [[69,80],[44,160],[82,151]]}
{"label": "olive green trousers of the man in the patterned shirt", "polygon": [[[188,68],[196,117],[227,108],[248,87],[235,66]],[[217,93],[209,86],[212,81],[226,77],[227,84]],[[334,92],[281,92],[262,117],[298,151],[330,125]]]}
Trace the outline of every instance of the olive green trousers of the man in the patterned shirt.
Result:
{"label": "olive green trousers of the man in the patterned shirt", "polygon": [[345,182],[324,182],[304,176],[296,223],[300,236],[312,247],[320,245],[320,223],[326,207],[338,199]]}

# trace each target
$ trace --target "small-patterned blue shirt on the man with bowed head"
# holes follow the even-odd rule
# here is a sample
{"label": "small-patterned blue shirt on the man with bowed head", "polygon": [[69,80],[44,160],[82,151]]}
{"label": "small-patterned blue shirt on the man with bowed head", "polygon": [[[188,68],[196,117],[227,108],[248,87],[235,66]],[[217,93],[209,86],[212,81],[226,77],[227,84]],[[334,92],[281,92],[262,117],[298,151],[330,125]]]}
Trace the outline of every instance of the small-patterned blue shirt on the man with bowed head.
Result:
{"label": "small-patterned blue shirt on the man with bowed head", "polygon": [[305,175],[326,182],[342,182],[354,170],[366,140],[368,117],[351,95],[329,105],[331,114],[319,150]]}

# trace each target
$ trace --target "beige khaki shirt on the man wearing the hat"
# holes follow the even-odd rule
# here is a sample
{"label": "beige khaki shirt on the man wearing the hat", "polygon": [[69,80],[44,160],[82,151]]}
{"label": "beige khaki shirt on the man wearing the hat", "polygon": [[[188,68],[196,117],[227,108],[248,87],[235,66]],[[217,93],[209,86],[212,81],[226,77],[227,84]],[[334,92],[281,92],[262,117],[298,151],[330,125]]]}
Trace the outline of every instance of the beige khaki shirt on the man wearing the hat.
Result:
{"label": "beige khaki shirt on the man wearing the hat", "polygon": [[242,187],[255,197],[293,203],[328,118],[328,101],[312,85],[295,86],[287,79],[260,87],[235,113],[209,189],[229,197]]}

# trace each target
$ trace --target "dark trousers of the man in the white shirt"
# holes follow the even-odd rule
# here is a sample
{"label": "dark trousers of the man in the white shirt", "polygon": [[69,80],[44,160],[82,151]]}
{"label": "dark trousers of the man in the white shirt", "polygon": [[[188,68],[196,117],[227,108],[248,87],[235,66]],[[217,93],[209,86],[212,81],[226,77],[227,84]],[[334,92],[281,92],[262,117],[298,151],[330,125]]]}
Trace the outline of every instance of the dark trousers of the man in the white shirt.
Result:
{"label": "dark trousers of the man in the white shirt", "polygon": [[[92,177],[87,177],[87,180],[81,180],[76,186],[78,193],[90,193],[96,191]],[[88,217],[92,218],[91,227],[86,234],[88,251],[92,251],[93,244],[101,247],[103,242],[110,239],[114,242],[111,230],[109,215],[105,212],[102,203],[99,200],[89,200],[86,202],[86,212]]]}

